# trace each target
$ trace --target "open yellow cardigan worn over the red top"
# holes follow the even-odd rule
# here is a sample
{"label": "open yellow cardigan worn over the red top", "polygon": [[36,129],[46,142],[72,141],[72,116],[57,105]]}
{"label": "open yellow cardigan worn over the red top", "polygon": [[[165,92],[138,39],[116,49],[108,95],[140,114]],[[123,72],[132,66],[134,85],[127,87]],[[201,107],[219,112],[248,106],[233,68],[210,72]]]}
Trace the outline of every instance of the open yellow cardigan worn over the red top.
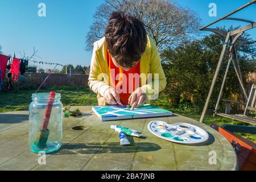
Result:
{"label": "open yellow cardigan worn over the red top", "polygon": [[[88,85],[97,94],[98,105],[106,105],[103,96],[105,90],[110,88],[110,73],[105,37],[93,45]],[[160,55],[154,40],[149,36],[147,36],[146,51],[141,57],[141,75],[143,75],[141,76],[141,88],[147,93],[146,103],[148,104],[150,100],[158,98],[159,92],[166,87],[166,77],[164,76]]]}

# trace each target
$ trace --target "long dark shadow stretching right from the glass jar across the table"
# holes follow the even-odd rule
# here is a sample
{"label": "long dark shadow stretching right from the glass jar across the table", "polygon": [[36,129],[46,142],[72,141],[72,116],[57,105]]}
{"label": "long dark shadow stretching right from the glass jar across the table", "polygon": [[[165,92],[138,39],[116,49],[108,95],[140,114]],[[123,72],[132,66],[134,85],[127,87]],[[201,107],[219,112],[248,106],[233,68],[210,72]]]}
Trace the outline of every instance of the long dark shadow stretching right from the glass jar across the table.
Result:
{"label": "long dark shadow stretching right from the glass jar across the table", "polygon": [[121,146],[119,142],[108,143],[67,143],[53,155],[65,154],[104,154],[104,153],[133,153],[158,151],[161,147],[155,143],[141,142],[137,145]]}

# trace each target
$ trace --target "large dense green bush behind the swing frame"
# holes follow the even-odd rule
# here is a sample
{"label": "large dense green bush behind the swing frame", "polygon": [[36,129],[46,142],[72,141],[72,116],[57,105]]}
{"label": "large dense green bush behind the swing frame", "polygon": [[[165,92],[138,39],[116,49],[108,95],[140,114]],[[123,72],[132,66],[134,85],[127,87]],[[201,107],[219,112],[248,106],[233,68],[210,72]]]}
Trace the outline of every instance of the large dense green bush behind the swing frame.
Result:
{"label": "large dense green bush behind the swing frame", "polygon": [[[229,30],[233,29],[230,27]],[[243,38],[248,39],[247,35],[244,35]],[[223,44],[224,38],[210,34],[201,40],[184,43],[182,46],[175,48],[168,48],[163,52],[162,64],[167,77],[164,94],[167,95],[171,105],[180,105],[180,109],[189,111],[187,105],[195,108],[204,104]],[[255,71],[255,56],[255,46],[244,47],[238,52],[243,80],[246,80],[247,73]],[[225,57],[223,64],[227,64],[227,59],[228,57]],[[225,65],[220,71],[209,108],[213,108],[216,104],[224,72]],[[230,68],[222,98],[240,100],[240,91],[236,72]],[[224,107],[223,103],[220,107]]]}

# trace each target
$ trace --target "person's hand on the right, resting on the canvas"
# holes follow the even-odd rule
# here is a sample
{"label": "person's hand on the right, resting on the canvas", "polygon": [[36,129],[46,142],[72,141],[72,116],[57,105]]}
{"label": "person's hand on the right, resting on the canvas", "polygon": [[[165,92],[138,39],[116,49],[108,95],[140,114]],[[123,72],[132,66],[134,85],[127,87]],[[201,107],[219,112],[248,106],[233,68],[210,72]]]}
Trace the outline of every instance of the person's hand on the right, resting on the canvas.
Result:
{"label": "person's hand on the right, resting on the canvas", "polygon": [[131,109],[133,110],[136,106],[140,106],[146,102],[147,94],[142,91],[141,88],[136,89],[131,93],[128,104],[130,104]]}

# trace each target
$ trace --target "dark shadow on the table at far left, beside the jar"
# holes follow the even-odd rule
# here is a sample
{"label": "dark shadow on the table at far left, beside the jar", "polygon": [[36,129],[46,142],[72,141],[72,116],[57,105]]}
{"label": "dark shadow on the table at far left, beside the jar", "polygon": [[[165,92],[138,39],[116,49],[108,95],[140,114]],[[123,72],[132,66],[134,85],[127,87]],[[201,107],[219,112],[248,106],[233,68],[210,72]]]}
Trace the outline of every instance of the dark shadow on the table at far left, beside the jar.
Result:
{"label": "dark shadow on the table at far left, beside the jar", "polygon": [[0,123],[22,123],[28,121],[28,114],[0,114]]}

